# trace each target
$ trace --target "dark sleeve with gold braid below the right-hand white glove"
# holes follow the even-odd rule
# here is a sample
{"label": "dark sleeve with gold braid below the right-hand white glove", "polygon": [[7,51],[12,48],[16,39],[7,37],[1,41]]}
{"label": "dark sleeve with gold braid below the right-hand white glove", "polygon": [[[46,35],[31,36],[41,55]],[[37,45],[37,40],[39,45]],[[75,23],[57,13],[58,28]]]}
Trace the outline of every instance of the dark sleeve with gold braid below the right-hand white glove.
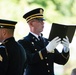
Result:
{"label": "dark sleeve with gold braid below the right-hand white glove", "polygon": [[69,52],[65,53],[64,50],[62,50],[62,52],[59,53],[58,50],[55,49],[54,61],[57,64],[65,65],[69,59],[69,56]]}

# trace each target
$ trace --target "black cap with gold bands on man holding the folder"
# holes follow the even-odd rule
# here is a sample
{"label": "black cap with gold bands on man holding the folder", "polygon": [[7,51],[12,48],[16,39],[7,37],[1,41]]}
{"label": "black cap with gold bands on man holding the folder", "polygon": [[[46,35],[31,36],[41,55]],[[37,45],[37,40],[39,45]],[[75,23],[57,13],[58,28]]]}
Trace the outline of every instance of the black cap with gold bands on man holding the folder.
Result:
{"label": "black cap with gold bands on man holding the folder", "polygon": [[23,18],[25,18],[27,22],[32,19],[35,19],[35,18],[44,20],[43,12],[44,12],[44,10],[42,8],[37,8],[37,9],[31,10],[31,11],[27,12],[26,14],[24,14]]}

